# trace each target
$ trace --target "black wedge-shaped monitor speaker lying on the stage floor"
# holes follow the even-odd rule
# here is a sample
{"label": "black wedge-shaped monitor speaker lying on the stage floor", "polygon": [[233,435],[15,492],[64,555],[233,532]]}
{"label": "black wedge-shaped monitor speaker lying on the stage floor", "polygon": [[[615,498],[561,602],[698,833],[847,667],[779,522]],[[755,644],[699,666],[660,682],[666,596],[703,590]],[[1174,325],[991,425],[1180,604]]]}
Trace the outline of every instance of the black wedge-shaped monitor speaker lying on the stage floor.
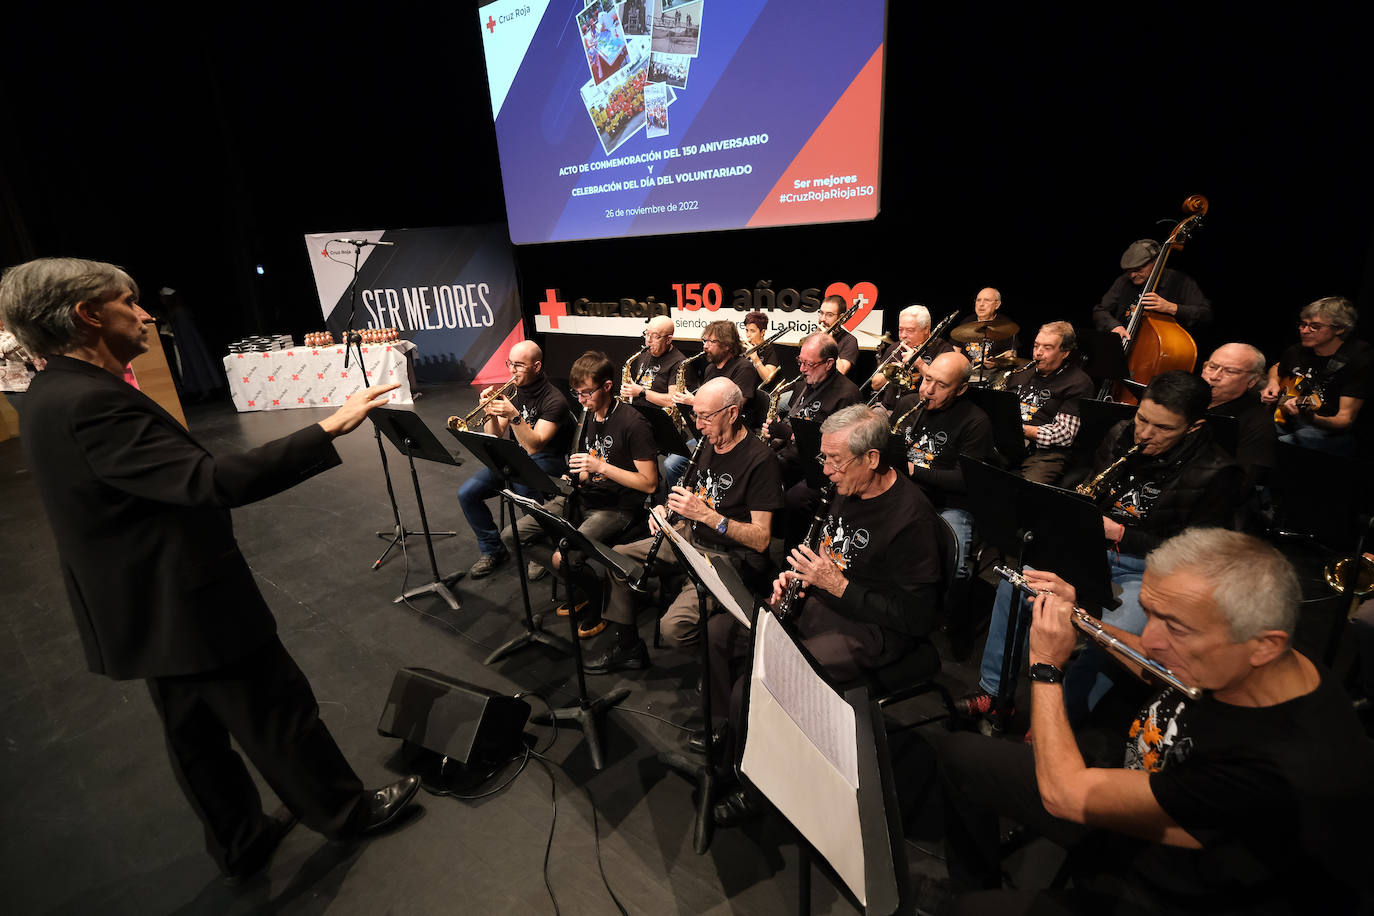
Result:
{"label": "black wedge-shaped monitor speaker lying on the stage floor", "polygon": [[403,667],[392,681],[376,731],[442,754],[455,764],[492,764],[521,746],[529,703],[427,667]]}

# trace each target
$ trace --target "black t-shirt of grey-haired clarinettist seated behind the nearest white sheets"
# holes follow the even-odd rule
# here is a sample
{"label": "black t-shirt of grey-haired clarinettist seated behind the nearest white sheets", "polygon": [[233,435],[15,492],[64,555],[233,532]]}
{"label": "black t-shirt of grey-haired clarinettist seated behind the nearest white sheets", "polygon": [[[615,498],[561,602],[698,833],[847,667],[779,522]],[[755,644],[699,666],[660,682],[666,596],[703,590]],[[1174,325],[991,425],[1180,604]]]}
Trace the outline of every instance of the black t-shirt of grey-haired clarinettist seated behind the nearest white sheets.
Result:
{"label": "black t-shirt of grey-haired clarinettist seated behind the nearest white sheets", "polygon": [[849,586],[842,597],[816,589],[811,600],[853,619],[925,636],[934,625],[940,582],[938,523],[930,500],[903,474],[872,499],[837,496],[816,552],[834,560]]}

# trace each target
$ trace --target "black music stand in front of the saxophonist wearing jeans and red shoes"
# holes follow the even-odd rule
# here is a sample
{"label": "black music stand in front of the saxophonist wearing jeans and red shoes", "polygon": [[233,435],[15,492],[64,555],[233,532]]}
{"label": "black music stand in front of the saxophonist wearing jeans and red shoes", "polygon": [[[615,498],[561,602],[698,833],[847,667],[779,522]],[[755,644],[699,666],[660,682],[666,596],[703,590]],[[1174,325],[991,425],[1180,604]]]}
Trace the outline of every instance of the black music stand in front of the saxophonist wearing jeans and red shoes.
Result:
{"label": "black music stand in front of the saxophonist wearing jeans and red shoes", "polygon": [[[1044,483],[1033,483],[991,464],[959,456],[978,533],[1025,566],[1058,574],[1073,585],[1083,607],[1114,607],[1112,575],[1103,547],[1102,512],[1085,497]],[[1029,632],[1020,588],[1011,592],[1011,615],[1002,654],[998,715],[1004,722],[1015,699],[1021,654]]]}

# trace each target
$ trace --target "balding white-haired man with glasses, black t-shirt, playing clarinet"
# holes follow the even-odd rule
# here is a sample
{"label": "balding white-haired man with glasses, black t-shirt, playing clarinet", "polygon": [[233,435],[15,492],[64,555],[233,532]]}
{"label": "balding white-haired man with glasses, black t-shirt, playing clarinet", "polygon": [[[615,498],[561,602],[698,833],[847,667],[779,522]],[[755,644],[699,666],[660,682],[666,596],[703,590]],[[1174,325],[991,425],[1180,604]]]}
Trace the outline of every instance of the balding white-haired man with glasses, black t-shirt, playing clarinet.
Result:
{"label": "balding white-haired man with glasses, black t-shirt, playing clarinet", "polygon": [[[679,525],[698,551],[739,567],[745,582],[761,584],[772,575],[767,552],[772,516],[782,508],[778,463],[768,446],[739,419],[743,396],[734,382],[703,382],[697,389],[695,405],[697,426],[706,442],[701,445],[697,467],[669,493],[666,508],[679,515]],[[653,519],[650,526],[657,527]],[[647,537],[617,551],[643,562],[653,540]],[[655,573],[676,567],[677,556],[672,548],[661,545],[654,560]],[[668,596],[664,595],[664,599]],[[583,669],[588,674],[610,674],[649,667],[649,647],[635,625],[635,595],[625,580],[610,580],[610,599],[603,617],[606,634],[602,639],[609,645],[594,654]],[[662,611],[661,630],[677,645],[692,645],[701,639],[697,589],[691,581]]]}

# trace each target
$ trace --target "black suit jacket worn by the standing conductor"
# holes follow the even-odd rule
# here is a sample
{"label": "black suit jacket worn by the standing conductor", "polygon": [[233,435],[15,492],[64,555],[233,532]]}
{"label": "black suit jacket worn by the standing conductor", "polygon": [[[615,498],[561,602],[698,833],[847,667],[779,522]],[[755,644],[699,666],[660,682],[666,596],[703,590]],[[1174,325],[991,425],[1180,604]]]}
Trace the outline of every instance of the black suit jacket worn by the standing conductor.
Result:
{"label": "black suit jacket worn by the standing conductor", "polygon": [[338,464],[317,424],[216,457],[122,379],[52,357],[19,431],[92,672],[206,672],[276,632],[229,508]]}

